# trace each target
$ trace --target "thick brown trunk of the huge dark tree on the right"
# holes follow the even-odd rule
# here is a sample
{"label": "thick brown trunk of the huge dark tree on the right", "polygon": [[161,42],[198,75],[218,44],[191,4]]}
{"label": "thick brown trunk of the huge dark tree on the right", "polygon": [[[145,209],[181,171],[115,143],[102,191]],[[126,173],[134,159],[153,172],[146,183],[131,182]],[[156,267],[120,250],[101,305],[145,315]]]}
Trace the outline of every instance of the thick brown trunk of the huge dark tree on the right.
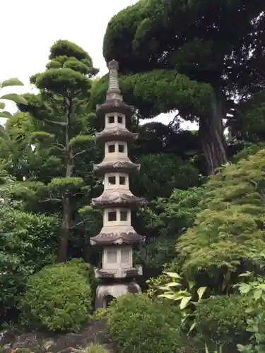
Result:
{"label": "thick brown trunk of the huge dark tree on the right", "polygon": [[223,134],[223,106],[217,95],[212,104],[212,115],[201,117],[199,139],[206,159],[207,174],[214,174],[216,168],[228,162]]}

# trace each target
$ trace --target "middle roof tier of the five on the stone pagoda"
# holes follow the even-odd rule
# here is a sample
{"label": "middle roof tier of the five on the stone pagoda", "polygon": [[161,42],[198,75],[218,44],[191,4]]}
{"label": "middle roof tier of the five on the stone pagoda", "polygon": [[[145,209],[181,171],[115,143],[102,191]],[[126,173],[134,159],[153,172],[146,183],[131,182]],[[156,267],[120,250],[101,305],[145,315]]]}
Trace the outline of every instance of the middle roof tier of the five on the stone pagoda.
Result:
{"label": "middle roof tier of the five on the stone pagoda", "polygon": [[100,164],[94,164],[93,169],[95,172],[105,174],[107,172],[123,172],[131,173],[140,170],[140,164],[133,163],[131,161],[120,161],[115,160],[112,162],[101,162]]}

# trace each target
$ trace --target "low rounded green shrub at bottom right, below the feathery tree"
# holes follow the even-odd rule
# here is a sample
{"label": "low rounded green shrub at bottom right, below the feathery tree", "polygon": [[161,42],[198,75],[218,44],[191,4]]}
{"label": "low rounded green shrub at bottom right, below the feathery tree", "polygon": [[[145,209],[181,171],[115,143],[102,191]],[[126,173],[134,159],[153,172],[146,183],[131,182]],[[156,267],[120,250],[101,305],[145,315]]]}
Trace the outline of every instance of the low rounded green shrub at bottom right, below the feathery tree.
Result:
{"label": "low rounded green shrub at bottom right, below the feathery tree", "polygon": [[[245,342],[249,337],[245,312],[248,306],[249,299],[237,294],[201,301],[196,310],[197,333],[206,342],[225,344],[232,352],[237,343]],[[223,352],[228,352],[227,349],[224,347]]]}

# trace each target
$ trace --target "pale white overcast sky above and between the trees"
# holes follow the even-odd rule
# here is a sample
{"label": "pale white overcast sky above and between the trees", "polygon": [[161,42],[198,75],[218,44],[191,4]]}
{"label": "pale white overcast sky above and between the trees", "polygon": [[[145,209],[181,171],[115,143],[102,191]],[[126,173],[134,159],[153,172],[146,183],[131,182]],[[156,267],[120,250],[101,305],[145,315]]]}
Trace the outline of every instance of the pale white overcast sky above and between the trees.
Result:
{"label": "pale white overcast sky above and between the trees", "polygon": [[[45,70],[49,48],[57,40],[69,40],[85,49],[100,68],[107,72],[102,56],[102,42],[107,23],[122,8],[136,0],[8,0],[1,4],[0,81],[17,77],[24,87],[6,88],[22,93],[33,90],[29,77]],[[121,48],[122,50],[122,48]],[[15,112],[16,106],[6,102],[6,110]],[[175,114],[161,114],[153,121],[168,124]],[[2,119],[1,119],[2,120]],[[196,128],[184,123],[183,128]]]}

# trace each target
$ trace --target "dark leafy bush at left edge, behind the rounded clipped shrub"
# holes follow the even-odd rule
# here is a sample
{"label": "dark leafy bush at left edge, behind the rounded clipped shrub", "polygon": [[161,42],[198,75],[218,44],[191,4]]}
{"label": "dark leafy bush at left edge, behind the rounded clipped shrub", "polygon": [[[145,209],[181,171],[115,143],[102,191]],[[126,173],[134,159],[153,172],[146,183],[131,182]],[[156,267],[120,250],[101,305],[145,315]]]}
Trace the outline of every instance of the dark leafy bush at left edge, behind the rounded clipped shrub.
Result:
{"label": "dark leafy bush at left edge, behind the rounded clipped shrub", "polygon": [[28,277],[54,261],[57,220],[0,208],[0,317],[16,307]]}

